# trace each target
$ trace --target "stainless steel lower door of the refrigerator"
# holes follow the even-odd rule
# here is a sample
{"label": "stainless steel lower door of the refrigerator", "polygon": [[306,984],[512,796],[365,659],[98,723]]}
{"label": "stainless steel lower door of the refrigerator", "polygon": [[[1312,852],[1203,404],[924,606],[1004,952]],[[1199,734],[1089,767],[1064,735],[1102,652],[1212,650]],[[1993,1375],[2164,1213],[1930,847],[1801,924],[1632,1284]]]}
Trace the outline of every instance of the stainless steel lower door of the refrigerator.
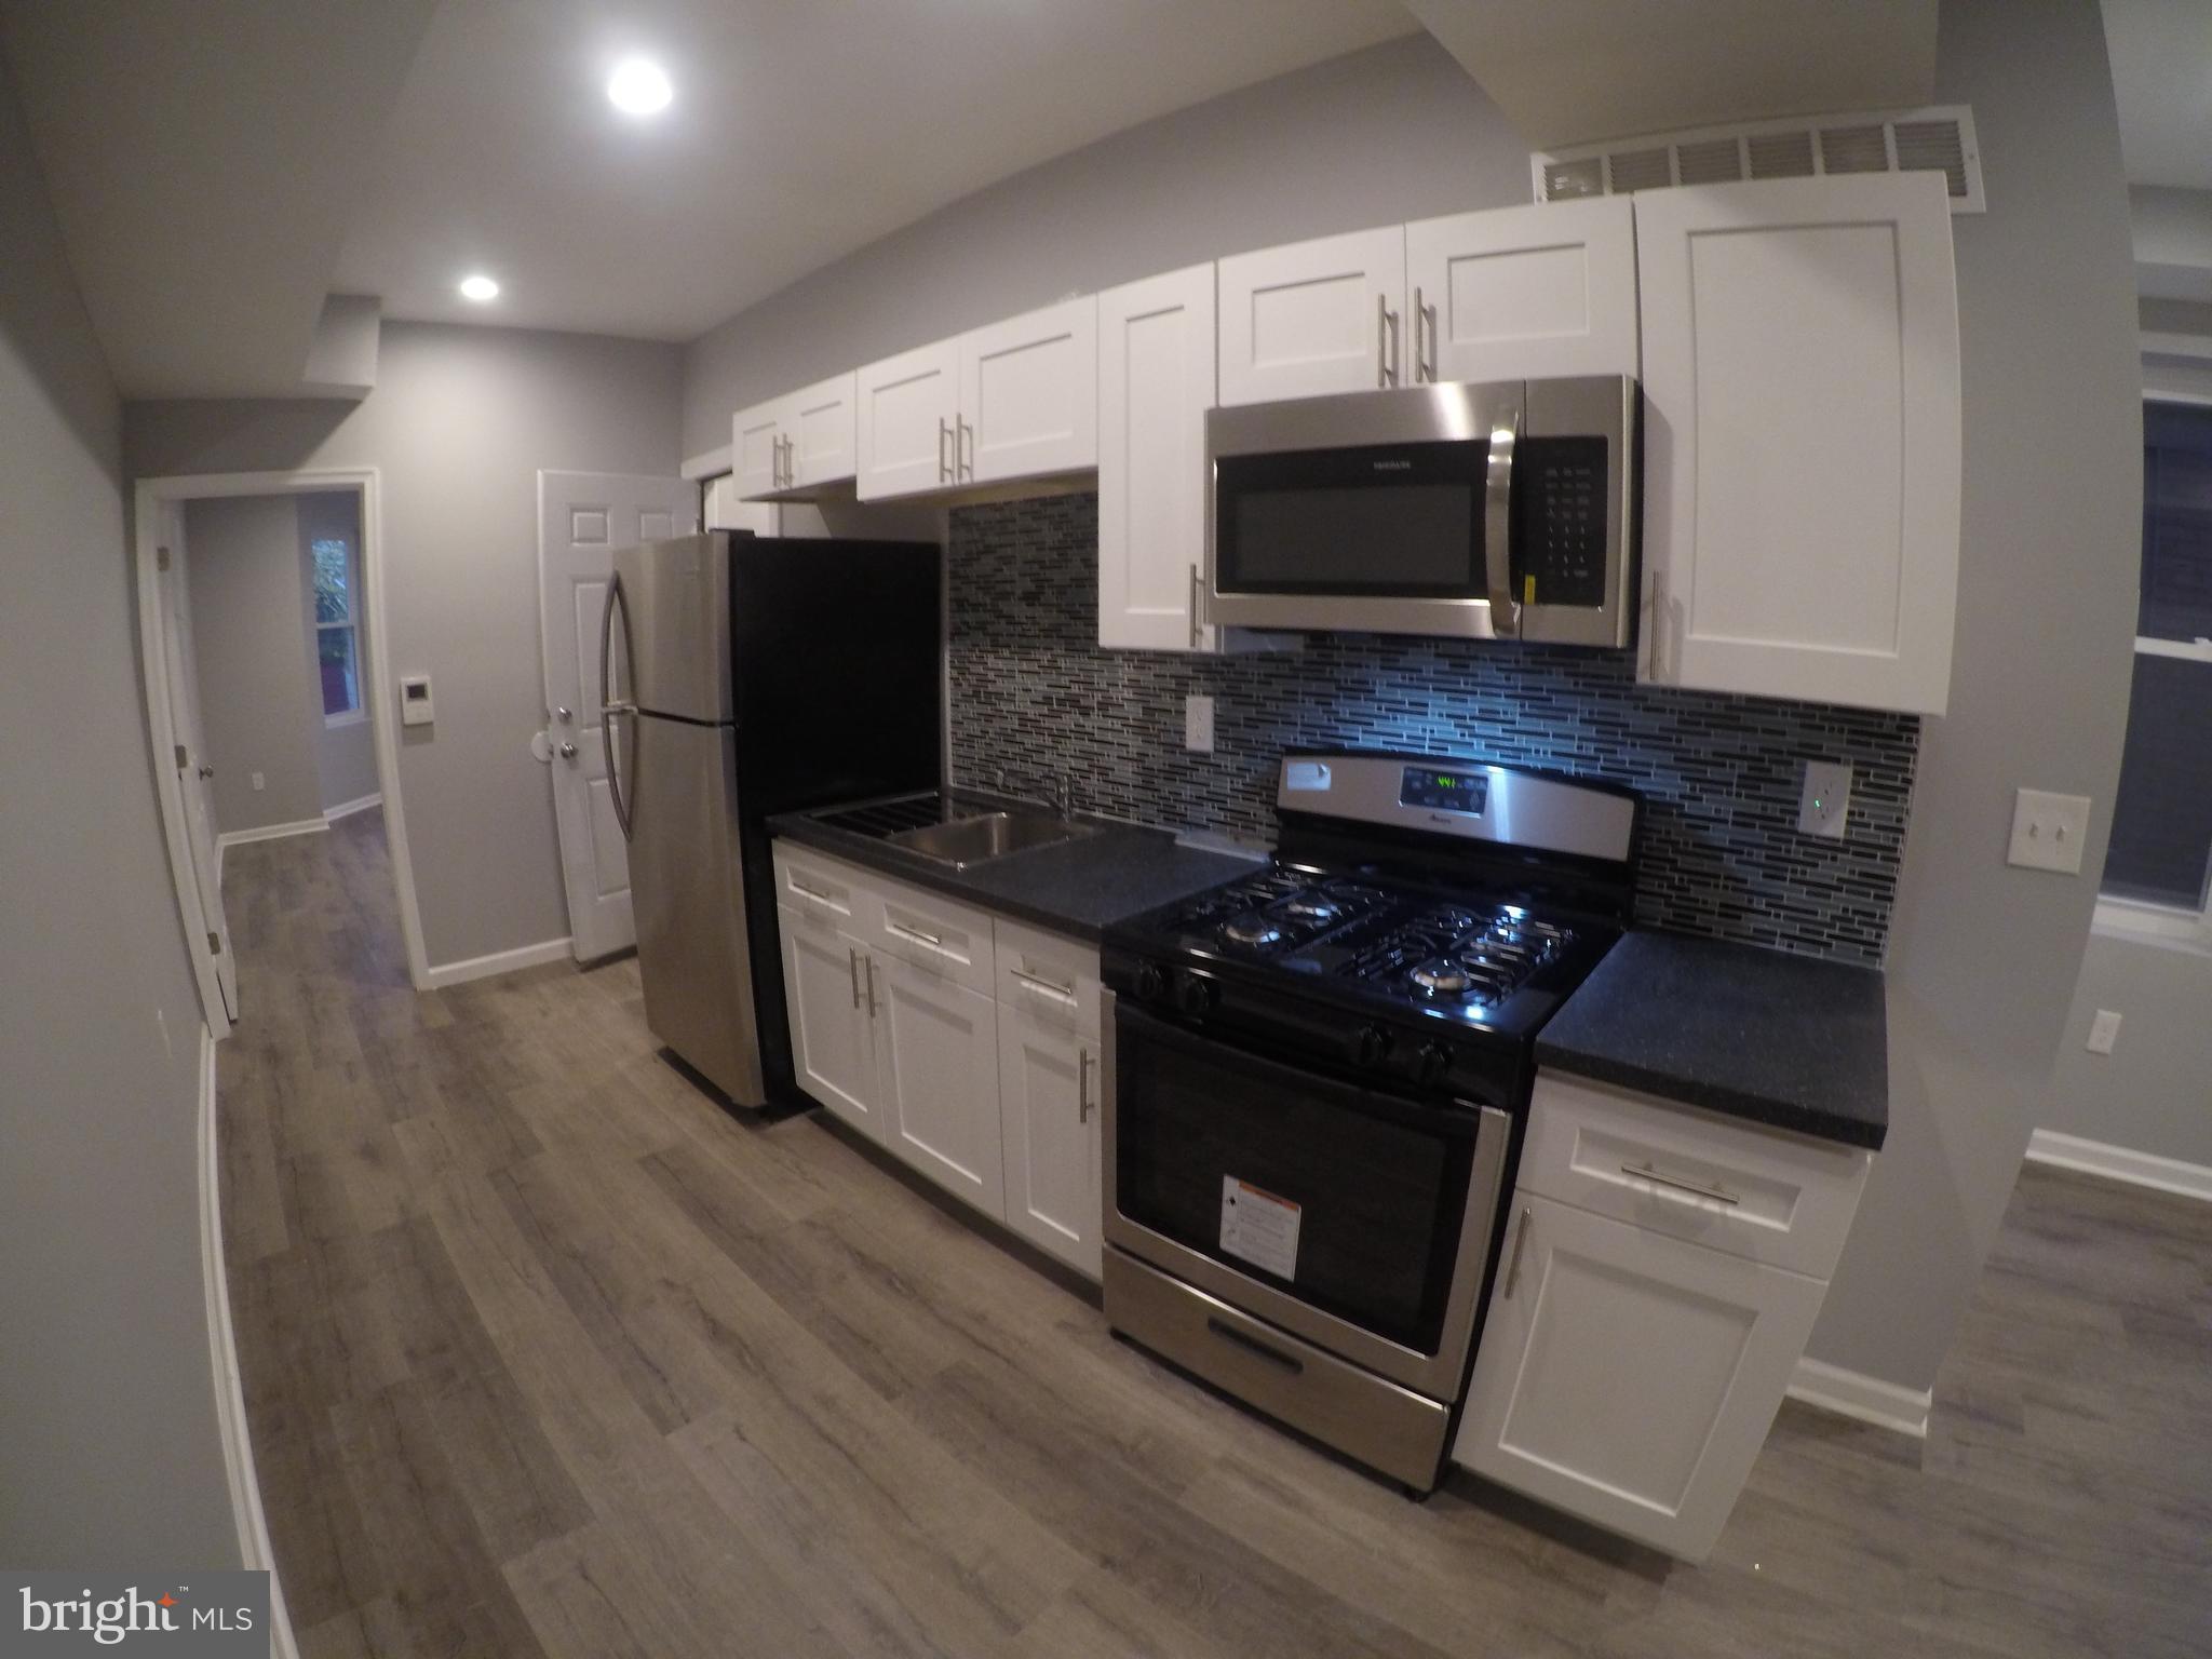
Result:
{"label": "stainless steel lower door of the refrigerator", "polygon": [[637,730],[626,787],[646,1026],[732,1102],[761,1106],[737,732],[653,714],[628,723]]}

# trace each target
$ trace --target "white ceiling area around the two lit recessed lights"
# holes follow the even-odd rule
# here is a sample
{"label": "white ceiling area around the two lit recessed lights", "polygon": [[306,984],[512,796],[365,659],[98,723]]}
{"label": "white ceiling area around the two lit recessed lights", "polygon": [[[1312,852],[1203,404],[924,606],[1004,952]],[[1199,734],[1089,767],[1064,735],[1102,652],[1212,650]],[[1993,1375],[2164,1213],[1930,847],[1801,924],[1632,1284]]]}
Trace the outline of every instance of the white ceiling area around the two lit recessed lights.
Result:
{"label": "white ceiling area around the two lit recessed lights", "polygon": [[[445,0],[330,288],[684,341],[1022,168],[1405,35],[1398,0]],[[626,53],[675,106],[606,102]],[[465,270],[495,305],[453,292]]]}

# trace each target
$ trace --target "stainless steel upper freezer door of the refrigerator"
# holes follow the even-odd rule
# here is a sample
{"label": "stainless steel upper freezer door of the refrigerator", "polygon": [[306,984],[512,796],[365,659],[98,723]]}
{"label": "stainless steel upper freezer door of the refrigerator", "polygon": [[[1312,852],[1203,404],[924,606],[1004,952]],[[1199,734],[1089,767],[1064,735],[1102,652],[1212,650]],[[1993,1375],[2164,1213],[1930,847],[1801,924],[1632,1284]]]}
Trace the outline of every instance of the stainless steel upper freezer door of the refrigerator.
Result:
{"label": "stainless steel upper freezer door of the refrigerator", "polygon": [[617,551],[615,593],[622,619],[608,644],[630,653],[628,699],[653,714],[730,719],[728,533]]}

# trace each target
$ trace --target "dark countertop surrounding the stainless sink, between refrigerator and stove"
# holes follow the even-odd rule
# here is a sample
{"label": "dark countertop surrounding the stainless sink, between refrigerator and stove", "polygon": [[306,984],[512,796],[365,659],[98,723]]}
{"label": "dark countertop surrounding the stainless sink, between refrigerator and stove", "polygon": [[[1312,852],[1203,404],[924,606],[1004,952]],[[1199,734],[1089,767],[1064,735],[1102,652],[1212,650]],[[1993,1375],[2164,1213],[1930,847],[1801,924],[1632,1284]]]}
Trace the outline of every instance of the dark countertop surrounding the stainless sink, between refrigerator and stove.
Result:
{"label": "dark countertop surrounding the stainless sink, between refrigerator and stove", "polygon": [[[962,799],[967,799],[964,792]],[[991,796],[975,801],[984,807],[998,805]],[[1088,836],[953,869],[907,847],[894,847],[889,841],[821,821],[836,812],[843,807],[787,812],[770,818],[768,830],[845,863],[880,869],[978,909],[1035,922],[1093,945],[1099,933],[1137,911],[1252,872],[1250,858],[1186,847],[1166,830],[1144,830],[1082,814],[1077,814],[1077,823],[1093,827]]]}

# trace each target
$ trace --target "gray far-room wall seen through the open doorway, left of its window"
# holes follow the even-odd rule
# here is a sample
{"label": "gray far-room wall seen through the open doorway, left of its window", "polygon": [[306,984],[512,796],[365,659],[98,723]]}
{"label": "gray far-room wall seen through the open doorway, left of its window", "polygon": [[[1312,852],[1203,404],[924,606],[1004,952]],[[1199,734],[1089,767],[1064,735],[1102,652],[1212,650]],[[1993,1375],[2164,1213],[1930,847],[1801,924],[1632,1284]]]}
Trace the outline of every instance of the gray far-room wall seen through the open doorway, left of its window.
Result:
{"label": "gray far-room wall seen through the open doorway, left of its window", "polygon": [[186,502],[184,549],[215,827],[321,823],[323,703],[301,637],[299,507],[290,495]]}

